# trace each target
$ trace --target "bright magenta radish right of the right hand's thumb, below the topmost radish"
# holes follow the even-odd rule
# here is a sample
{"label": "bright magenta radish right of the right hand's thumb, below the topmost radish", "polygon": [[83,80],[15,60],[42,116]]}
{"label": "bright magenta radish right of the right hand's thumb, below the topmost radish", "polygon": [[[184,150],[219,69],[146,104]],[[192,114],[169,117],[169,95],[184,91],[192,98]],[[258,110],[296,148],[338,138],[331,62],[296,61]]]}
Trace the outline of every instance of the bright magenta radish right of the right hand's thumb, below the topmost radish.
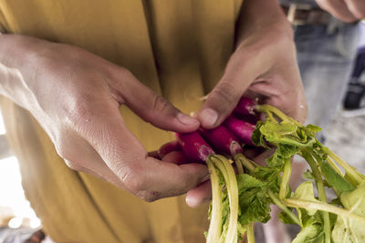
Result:
{"label": "bright magenta radish right of the right hand's thumb, below the topmost radish", "polygon": [[228,116],[224,121],[224,126],[230,130],[235,137],[245,145],[254,146],[251,137],[255,130],[255,125],[239,120],[234,116]]}

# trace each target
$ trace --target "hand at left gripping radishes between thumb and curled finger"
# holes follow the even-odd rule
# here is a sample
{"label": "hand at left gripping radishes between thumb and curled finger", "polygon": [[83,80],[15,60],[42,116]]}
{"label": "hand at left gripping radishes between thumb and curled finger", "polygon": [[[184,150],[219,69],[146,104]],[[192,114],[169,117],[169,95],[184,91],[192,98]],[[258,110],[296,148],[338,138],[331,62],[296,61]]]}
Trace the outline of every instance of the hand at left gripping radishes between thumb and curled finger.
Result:
{"label": "hand at left gripping radishes between thumb and curled finger", "polygon": [[162,129],[191,132],[199,127],[125,68],[78,47],[21,35],[0,35],[0,44],[11,50],[0,58],[1,93],[36,117],[68,167],[146,201],[183,194],[209,178],[202,164],[149,157],[125,127],[120,105]]}

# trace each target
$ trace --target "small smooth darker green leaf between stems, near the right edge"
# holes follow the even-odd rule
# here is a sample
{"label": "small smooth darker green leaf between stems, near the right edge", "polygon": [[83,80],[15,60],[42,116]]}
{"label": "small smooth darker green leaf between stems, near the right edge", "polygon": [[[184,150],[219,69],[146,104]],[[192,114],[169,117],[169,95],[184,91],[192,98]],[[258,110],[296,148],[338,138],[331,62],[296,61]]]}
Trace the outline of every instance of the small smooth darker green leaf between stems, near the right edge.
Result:
{"label": "small smooth darker green leaf between stems, near the right edge", "polygon": [[353,190],[355,187],[344,177],[341,177],[326,161],[320,163],[320,169],[326,178],[328,185],[336,189],[339,194],[345,191]]}

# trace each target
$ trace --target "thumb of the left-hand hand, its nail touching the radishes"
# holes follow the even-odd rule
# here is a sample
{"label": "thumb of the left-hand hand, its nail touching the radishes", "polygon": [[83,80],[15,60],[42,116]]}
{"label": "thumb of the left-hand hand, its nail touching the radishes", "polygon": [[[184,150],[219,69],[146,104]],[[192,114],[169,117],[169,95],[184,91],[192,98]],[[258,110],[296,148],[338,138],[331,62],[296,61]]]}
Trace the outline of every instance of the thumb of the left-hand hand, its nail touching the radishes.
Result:
{"label": "thumb of the left-hand hand, its nail touching the radishes", "polygon": [[124,103],[143,120],[155,127],[174,132],[192,132],[199,127],[196,118],[183,114],[165,98],[142,85],[134,76],[128,82],[122,92]]}

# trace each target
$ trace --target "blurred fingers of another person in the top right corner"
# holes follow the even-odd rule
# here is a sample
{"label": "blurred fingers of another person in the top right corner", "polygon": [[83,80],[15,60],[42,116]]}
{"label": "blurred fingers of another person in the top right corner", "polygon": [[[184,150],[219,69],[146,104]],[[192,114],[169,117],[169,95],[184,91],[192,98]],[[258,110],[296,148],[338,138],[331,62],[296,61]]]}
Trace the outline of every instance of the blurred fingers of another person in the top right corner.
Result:
{"label": "blurred fingers of another person in the top right corner", "polygon": [[316,0],[318,5],[339,20],[352,23],[365,18],[364,0]]}

